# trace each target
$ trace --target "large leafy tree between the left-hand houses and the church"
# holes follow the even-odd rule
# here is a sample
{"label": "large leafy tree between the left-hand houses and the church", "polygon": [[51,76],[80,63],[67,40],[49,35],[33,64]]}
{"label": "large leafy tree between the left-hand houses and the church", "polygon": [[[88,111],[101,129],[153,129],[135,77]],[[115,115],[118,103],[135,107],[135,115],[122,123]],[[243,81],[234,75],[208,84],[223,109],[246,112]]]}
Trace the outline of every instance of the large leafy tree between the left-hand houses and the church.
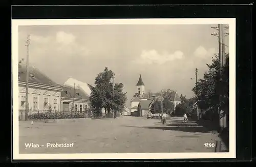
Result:
{"label": "large leafy tree between the left-hand houses and the church", "polygon": [[100,116],[102,108],[108,113],[112,110],[121,111],[124,108],[127,98],[126,93],[122,93],[123,83],[115,83],[113,90],[111,79],[114,76],[114,72],[105,67],[104,71],[95,78],[95,87],[91,93],[90,101],[96,116]]}

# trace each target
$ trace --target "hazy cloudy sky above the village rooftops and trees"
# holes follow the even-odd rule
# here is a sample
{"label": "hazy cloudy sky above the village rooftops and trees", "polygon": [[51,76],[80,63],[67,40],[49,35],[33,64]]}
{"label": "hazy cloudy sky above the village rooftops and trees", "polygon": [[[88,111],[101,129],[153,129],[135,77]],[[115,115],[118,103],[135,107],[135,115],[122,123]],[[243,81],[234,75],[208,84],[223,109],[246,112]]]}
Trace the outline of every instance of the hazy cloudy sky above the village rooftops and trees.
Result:
{"label": "hazy cloudy sky above the village rooftops and trees", "polygon": [[[171,89],[194,96],[198,78],[218,53],[218,37],[212,25],[81,25],[19,26],[19,60],[26,61],[26,37],[30,34],[29,64],[57,83],[69,77],[94,85],[104,67],[124,84],[127,102],[136,93],[141,74],[145,91]],[[228,44],[228,37],[225,37]]]}

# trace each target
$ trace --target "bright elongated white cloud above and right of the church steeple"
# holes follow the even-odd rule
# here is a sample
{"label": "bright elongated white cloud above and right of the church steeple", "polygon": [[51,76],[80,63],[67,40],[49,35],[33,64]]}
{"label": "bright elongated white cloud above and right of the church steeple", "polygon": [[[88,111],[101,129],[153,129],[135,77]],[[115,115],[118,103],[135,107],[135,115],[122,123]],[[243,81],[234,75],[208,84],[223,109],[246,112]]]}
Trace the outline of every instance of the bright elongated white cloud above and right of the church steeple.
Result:
{"label": "bright elongated white cloud above and right of the church steeple", "polygon": [[160,54],[156,50],[143,50],[140,54],[140,57],[136,59],[135,62],[137,62],[138,64],[162,65],[165,62],[181,59],[182,57],[183,52],[181,51],[176,51],[173,54],[169,54],[165,51],[162,54]]}

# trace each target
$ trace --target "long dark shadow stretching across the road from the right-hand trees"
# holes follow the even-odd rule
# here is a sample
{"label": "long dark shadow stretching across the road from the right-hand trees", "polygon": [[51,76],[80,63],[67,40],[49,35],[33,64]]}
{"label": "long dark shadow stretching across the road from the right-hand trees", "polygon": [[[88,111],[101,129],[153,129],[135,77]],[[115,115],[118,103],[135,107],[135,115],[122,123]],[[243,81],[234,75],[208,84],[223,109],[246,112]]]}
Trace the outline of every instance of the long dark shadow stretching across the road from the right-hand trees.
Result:
{"label": "long dark shadow stretching across the road from the right-hand trees", "polygon": [[188,126],[178,126],[171,127],[169,125],[165,125],[164,127],[134,127],[134,126],[122,126],[122,127],[131,127],[131,128],[142,128],[142,129],[154,129],[154,130],[168,130],[168,131],[182,131],[182,132],[200,132],[200,133],[217,133],[216,131],[211,131],[205,127],[188,127]]}

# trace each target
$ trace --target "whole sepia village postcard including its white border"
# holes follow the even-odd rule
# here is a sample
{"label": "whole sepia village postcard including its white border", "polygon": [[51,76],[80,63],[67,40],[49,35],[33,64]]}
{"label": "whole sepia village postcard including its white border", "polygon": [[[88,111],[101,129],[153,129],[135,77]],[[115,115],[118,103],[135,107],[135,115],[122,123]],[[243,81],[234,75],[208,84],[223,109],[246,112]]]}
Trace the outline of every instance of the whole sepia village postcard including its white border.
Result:
{"label": "whole sepia village postcard including its white border", "polygon": [[234,158],[235,26],[12,20],[14,159]]}

